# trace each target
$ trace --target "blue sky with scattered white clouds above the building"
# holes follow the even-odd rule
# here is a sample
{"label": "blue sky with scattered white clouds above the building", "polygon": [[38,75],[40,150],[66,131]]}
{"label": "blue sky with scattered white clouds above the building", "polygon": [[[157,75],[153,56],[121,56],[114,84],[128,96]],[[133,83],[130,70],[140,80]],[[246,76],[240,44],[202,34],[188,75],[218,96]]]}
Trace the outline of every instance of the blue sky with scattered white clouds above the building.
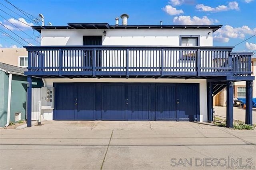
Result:
{"label": "blue sky with scattered white clouds above the building", "polygon": [[[28,14],[23,14],[8,2]],[[46,25],[48,22],[52,25],[75,22],[114,25],[114,18],[123,13],[129,14],[129,25],[159,25],[161,20],[164,25],[223,25],[214,33],[215,46],[234,46],[256,34],[256,0],[0,0],[0,3],[0,31],[9,34],[6,36],[0,32],[0,47],[22,47],[13,39],[25,45],[37,45],[36,36],[40,34],[33,32],[28,25],[37,24],[31,19],[38,18],[39,13],[44,15]],[[234,50],[255,51],[256,36],[237,45]]]}

